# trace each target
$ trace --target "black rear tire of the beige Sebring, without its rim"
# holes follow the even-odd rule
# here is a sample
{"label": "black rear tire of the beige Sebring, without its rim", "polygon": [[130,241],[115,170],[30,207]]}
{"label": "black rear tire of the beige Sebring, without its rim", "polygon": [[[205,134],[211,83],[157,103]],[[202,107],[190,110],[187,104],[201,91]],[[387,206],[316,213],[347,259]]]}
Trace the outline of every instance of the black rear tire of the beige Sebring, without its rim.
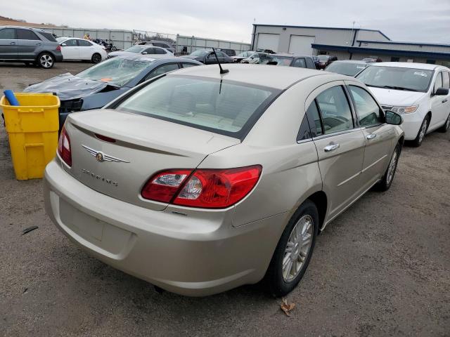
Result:
{"label": "black rear tire of the beige Sebring, without its rim", "polygon": [[[283,260],[285,259],[285,249],[290,239],[290,234],[293,232],[295,225],[299,220],[309,216],[312,220],[312,240],[307,256],[304,257],[304,261],[300,267],[295,278],[290,281],[286,281],[283,277]],[[272,256],[269,268],[264,276],[264,286],[266,290],[276,297],[285,296],[290,293],[302,279],[304,272],[307,270],[309,261],[311,260],[312,252],[314,251],[314,244],[316,243],[317,233],[319,232],[319,212],[316,205],[310,201],[304,201],[304,203],[295,211],[292,218],[290,218],[288,225],[286,225],[281,238],[278,241],[274,255]]]}

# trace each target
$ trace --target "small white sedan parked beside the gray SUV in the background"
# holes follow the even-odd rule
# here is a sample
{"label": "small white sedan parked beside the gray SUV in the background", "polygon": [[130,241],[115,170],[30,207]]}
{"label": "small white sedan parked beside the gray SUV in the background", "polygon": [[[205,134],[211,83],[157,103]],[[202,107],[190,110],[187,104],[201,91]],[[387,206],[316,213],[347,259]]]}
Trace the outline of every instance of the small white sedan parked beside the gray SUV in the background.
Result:
{"label": "small white sedan parked beside the gray SUV in the background", "polygon": [[61,46],[64,60],[90,60],[93,63],[98,63],[108,57],[105,47],[86,39],[58,37],[56,40]]}

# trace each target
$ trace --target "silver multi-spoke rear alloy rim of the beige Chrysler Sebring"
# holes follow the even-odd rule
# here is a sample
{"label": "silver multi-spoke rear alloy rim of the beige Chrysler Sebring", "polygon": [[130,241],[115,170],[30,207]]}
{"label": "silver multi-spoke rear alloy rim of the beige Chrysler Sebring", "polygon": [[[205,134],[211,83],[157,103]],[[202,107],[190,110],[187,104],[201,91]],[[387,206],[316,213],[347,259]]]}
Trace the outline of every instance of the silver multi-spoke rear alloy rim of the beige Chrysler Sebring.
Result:
{"label": "silver multi-spoke rear alloy rim of the beige Chrysler Sebring", "polygon": [[313,230],[313,219],[309,215],[304,215],[290,232],[283,258],[283,279],[285,282],[293,281],[300,274],[311,249]]}

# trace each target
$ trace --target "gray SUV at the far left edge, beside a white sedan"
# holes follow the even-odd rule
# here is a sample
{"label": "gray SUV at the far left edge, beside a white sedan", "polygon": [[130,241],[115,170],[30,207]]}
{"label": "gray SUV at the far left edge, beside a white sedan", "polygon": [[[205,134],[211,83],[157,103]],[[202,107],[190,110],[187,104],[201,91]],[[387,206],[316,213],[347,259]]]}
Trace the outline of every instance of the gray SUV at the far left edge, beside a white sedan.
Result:
{"label": "gray SUV at the far left edge, beside a white sedan", "polygon": [[0,61],[25,62],[50,69],[63,60],[58,41],[43,29],[30,27],[0,27]]}

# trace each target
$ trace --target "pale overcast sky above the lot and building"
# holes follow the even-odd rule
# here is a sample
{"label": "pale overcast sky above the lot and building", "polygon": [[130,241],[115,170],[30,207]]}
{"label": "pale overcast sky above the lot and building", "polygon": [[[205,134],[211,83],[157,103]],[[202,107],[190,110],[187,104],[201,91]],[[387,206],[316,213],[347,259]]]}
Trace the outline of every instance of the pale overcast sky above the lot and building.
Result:
{"label": "pale overcast sky above the lot and building", "polygon": [[450,0],[13,0],[0,15],[85,28],[249,42],[252,23],[380,29],[396,41],[450,44]]}

